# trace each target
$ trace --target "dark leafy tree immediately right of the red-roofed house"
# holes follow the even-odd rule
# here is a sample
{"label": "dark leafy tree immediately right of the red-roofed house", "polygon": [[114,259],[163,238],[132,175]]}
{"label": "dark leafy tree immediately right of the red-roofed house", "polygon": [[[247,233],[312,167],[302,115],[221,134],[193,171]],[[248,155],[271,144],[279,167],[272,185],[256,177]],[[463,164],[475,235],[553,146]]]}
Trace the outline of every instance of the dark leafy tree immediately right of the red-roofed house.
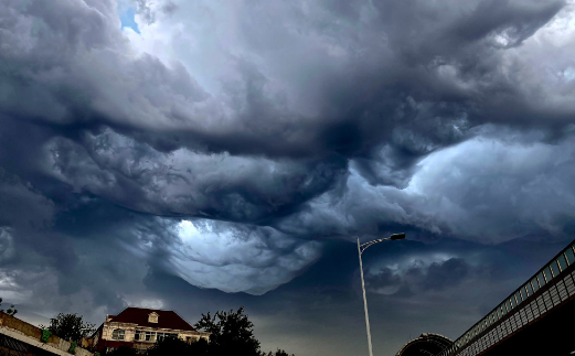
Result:
{"label": "dark leafy tree immediately right of the red-roofed house", "polygon": [[254,337],[254,324],[241,306],[236,312],[202,314],[194,327],[211,333],[207,350],[210,356],[260,356],[259,342]]}

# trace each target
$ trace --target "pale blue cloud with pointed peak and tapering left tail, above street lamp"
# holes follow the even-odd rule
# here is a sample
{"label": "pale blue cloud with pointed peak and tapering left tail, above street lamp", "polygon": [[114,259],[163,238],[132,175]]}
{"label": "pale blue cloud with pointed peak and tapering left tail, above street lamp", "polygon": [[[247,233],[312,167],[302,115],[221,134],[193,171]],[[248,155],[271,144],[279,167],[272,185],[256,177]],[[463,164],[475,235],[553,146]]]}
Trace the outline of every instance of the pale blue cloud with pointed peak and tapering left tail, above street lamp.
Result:
{"label": "pale blue cloud with pointed peak and tapering left tail, above street lamp", "polygon": [[574,138],[549,144],[529,134],[488,134],[422,160],[408,186],[373,186],[353,171],[341,195],[310,201],[281,219],[290,234],[354,236],[419,228],[487,244],[565,238],[573,230]]}

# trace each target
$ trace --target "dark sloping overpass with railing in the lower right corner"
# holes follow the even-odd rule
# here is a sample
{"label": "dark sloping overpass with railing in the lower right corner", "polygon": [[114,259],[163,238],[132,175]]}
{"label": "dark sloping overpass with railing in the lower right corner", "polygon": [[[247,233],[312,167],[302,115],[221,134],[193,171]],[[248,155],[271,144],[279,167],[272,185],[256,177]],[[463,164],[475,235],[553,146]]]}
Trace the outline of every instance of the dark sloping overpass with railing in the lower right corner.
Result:
{"label": "dark sloping overpass with railing in the lower right corner", "polygon": [[574,242],[440,352],[419,348],[418,354],[406,354],[402,348],[396,355],[575,354]]}

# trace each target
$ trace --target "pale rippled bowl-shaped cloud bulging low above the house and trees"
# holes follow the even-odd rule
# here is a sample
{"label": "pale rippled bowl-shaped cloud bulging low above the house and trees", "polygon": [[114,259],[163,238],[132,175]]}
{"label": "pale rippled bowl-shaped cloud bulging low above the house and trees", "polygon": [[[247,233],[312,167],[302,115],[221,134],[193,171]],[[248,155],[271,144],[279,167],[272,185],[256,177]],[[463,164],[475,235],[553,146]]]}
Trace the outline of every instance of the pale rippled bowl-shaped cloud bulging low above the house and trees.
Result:
{"label": "pale rippled bowl-shaped cloud bulging low above the house and trees", "polygon": [[315,262],[321,244],[271,228],[184,220],[178,226],[170,267],[190,283],[225,292],[263,294]]}

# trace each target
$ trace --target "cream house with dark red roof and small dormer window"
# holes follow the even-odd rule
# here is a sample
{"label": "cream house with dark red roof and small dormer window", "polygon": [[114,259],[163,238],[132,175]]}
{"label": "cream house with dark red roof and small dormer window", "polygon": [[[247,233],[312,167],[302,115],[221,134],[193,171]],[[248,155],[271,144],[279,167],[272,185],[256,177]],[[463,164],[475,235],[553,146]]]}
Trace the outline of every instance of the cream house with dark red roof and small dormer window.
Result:
{"label": "cream house with dark red roof and small dormer window", "polygon": [[178,313],[145,308],[126,308],[106,321],[94,333],[94,348],[108,352],[119,346],[146,350],[164,337],[178,337],[187,343],[209,339],[210,333],[198,332]]}

